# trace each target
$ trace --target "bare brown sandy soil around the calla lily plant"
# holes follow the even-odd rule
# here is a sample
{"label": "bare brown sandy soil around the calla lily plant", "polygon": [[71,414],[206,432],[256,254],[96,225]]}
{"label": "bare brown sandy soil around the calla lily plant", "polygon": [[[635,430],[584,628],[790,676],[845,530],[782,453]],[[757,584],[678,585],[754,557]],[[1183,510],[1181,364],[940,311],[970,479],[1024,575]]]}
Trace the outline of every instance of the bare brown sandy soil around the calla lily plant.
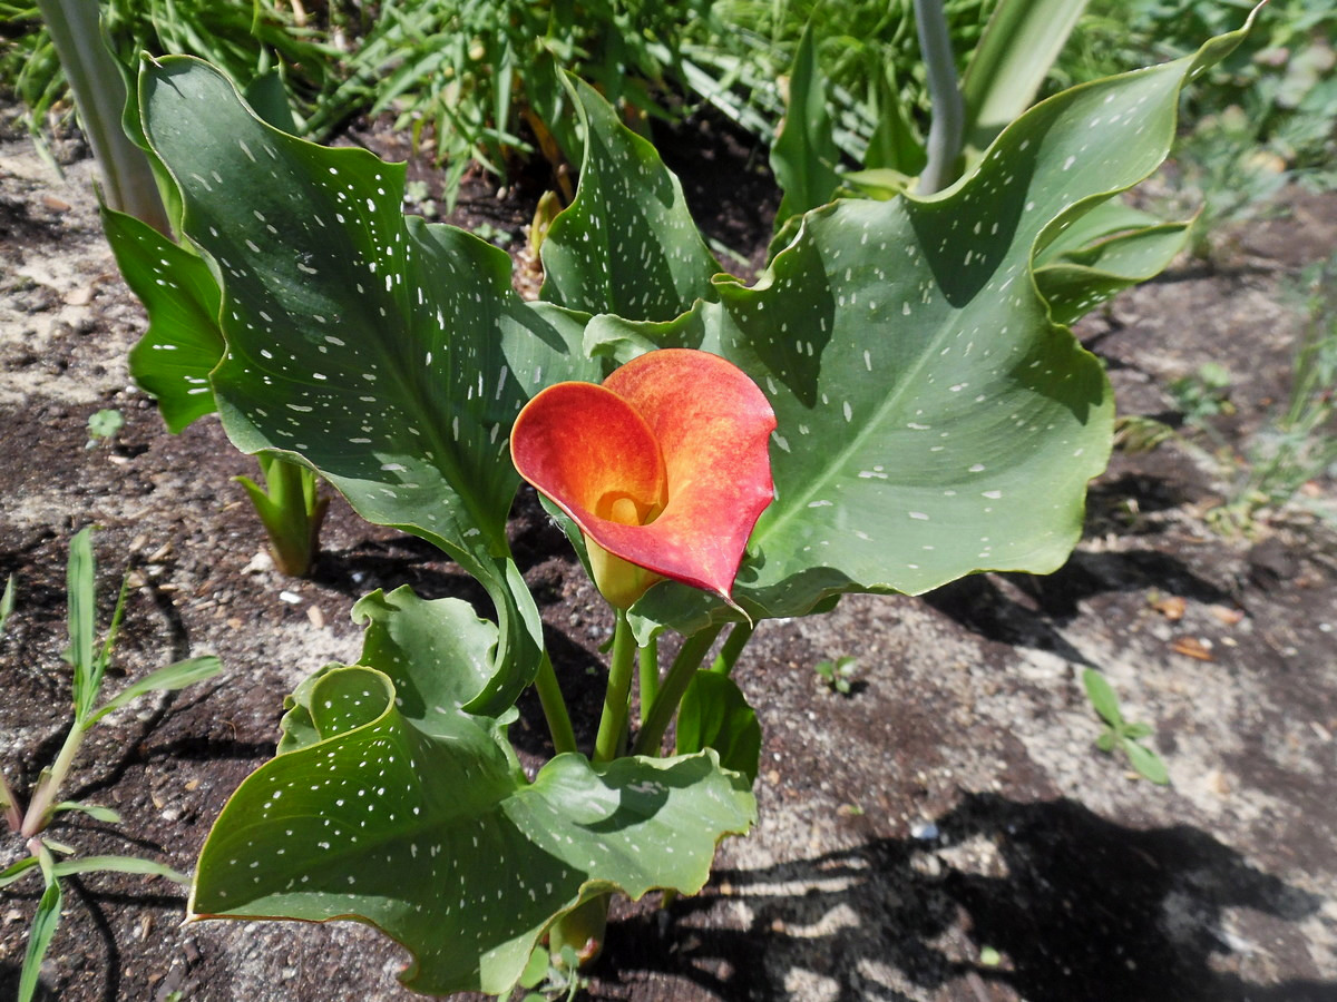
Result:
{"label": "bare brown sandy soil around the calla lily plant", "polygon": [[[377,135],[353,139],[397,152]],[[707,234],[741,255],[726,267],[755,267],[778,200],[765,158],[717,124],[662,140]],[[410,176],[436,175],[416,163]],[[473,179],[452,219],[515,250],[550,182]],[[406,582],[485,603],[431,546],[341,500],[309,578],[269,566],[229,480],[253,461],[215,420],[168,434],[130,382],[144,317],[90,184],[87,160],[62,179],[21,136],[0,142],[0,577],[19,596],[0,645],[0,762],[25,792],[64,737],[64,562],[96,524],[108,605],[134,573],[110,689],[203,652],[225,671],[95,731],[67,795],[123,823],[66,815],[52,834],[189,871],[225,799],[271,756],[282,696],[356,659],[358,596]],[[1241,454],[1257,440],[1301,330],[1288,283],[1337,248],[1337,198],[1290,192],[1280,208],[1223,265],[1177,265],[1082,325],[1122,413],[1181,420],[1169,385],[1213,361],[1237,409],[1219,436]],[[532,286],[532,266],[520,271]],[[86,448],[103,407],[126,426]],[[735,673],[765,732],[761,823],[721,848],[701,895],[616,907],[590,997],[1337,999],[1337,536],[1313,514],[1337,490],[1314,480],[1304,508],[1222,536],[1209,513],[1230,484],[1206,440],[1186,438],[1116,454],[1086,537],[1050,577],[984,574],[762,624]],[[592,720],[608,616],[531,494],[512,534],[574,715]],[[858,659],[849,695],[814,673],[842,655]],[[1169,787],[1096,751],[1086,667],[1155,727]],[[521,711],[513,733],[536,762],[545,728],[536,704]],[[0,840],[0,867],[20,854]],[[410,997],[394,981],[402,951],[354,923],[183,926],[185,896],[164,880],[67,887],[44,998]],[[0,891],[0,998],[16,991],[39,890]]]}

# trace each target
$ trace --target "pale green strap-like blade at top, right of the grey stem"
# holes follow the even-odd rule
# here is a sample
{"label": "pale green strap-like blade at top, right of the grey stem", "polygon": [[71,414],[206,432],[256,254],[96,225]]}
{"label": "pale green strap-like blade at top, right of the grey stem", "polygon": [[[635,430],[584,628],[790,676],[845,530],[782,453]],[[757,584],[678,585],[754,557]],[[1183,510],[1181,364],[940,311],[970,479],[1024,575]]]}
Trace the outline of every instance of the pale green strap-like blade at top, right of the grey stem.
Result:
{"label": "pale green strap-like blade at top, right of the grey stem", "polygon": [[967,143],[983,150],[1035,100],[1087,0],[1000,0],[961,80]]}

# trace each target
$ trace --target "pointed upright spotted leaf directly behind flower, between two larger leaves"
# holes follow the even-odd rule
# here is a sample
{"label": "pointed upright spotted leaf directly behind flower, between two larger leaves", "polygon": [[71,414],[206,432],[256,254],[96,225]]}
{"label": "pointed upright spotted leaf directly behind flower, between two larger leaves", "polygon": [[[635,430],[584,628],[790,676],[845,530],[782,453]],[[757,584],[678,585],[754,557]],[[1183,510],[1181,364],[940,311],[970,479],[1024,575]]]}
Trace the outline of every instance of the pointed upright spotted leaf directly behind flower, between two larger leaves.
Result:
{"label": "pointed upright spotted leaf directly behind flower, between two larger leaves", "polygon": [[580,187],[543,240],[543,298],[591,314],[668,321],[719,271],[678,179],[588,84],[568,77],[586,131]]}

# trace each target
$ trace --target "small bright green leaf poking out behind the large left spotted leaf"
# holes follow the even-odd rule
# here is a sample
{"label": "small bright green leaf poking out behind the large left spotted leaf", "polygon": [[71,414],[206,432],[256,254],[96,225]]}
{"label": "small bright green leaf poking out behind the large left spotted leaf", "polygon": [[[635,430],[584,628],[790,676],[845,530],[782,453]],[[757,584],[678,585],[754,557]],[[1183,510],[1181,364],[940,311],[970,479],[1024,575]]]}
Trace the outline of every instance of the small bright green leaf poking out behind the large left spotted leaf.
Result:
{"label": "small bright green leaf poking out behind the large left spotted leaf", "polygon": [[218,282],[209,265],[134,216],[102,207],[102,227],[126,285],[148,313],[130,374],[158,399],[172,433],[213,414],[209,374],[223,357]]}

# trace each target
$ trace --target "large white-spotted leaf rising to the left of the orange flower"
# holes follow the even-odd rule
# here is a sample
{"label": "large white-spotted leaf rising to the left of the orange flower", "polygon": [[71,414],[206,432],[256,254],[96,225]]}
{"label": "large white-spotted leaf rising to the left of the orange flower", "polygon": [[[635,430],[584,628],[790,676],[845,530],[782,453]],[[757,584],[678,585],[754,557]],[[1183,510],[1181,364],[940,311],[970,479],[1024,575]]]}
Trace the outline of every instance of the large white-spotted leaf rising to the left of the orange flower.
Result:
{"label": "large white-spotted leaf rising to the left of the orange flower", "polygon": [[584,318],[523,302],[484,240],[405,219],[404,166],[262,123],[198,60],[140,76],[144,131],[183,227],[222,281],[219,415],[243,452],[310,465],[369,521],[439,545],[479,578],[503,643],[476,707],[537,668],[537,609],[509,557],[507,437],[529,394],[592,377]]}

